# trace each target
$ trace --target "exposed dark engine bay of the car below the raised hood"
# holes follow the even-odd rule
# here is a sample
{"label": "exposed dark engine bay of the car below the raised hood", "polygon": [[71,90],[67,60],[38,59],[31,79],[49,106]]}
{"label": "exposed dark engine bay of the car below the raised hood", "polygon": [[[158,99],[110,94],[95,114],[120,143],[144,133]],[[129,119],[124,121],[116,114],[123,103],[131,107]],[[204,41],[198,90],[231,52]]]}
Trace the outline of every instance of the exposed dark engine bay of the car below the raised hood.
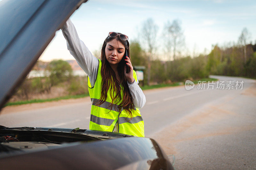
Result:
{"label": "exposed dark engine bay of the car below the raised hood", "polygon": [[[0,157],[9,154],[34,152],[40,150],[54,149],[64,146],[82,144],[86,142],[112,138],[107,134],[96,135],[84,134],[86,129],[60,129],[54,131],[51,128],[6,128],[0,129]],[[58,129],[59,130],[59,129]],[[79,132],[80,131],[80,132]]]}

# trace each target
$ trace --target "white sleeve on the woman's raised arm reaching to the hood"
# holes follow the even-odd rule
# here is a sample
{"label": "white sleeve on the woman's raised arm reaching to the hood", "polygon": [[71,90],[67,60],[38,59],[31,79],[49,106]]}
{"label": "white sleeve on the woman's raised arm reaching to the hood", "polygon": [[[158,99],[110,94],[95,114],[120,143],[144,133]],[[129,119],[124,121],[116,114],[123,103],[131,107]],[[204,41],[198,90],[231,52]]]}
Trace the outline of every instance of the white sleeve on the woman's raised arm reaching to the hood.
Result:
{"label": "white sleeve on the woman's raised arm reaching to the hood", "polygon": [[70,19],[67,20],[61,30],[67,41],[70,54],[73,55],[78,65],[88,75],[93,86],[98,73],[98,59],[92,55],[84,42],[79,39],[76,28]]}

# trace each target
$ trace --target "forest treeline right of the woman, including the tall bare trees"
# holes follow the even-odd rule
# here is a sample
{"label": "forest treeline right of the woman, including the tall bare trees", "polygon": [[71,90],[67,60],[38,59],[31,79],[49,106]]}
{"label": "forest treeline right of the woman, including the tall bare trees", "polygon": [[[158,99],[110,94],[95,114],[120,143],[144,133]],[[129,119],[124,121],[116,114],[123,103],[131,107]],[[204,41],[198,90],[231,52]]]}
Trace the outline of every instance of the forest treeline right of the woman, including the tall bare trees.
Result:
{"label": "forest treeline right of the woman, including the tall bare trees", "polygon": [[256,40],[252,44],[246,27],[237,35],[237,42],[223,47],[212,45],[209,54],[195,56],[194,51],[193,57],[184,55],[186,43],[180,20],[167,21],[163,36],[157,36],[158,32],[158,26],[149,18],[142,23],[141,38],[130,45],[132,64],[147,68],[144,79],[148,85],[205,78],[209,74],[256,78]]}

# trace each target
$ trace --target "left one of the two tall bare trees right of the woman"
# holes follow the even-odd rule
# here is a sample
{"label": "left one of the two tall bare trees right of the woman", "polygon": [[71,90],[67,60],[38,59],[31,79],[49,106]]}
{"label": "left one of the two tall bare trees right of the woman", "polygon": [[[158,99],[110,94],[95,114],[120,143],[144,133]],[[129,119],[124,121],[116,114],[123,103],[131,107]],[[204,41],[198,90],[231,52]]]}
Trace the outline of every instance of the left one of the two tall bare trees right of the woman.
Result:
{"label": "left one of the two tall bare trees right of the woman", "polygon": [[158,32],[158,26],[155,24],[152,18],[148,18],[144,21],[142,25],[141,35],[142,41],[145,42],[147,48],[147,58],[148,58],[148,77],[147,77],[147,84],[149,85],[150,81],[150,69],[151,69],[151,57],[154,55],[156,51],[156,34]]}

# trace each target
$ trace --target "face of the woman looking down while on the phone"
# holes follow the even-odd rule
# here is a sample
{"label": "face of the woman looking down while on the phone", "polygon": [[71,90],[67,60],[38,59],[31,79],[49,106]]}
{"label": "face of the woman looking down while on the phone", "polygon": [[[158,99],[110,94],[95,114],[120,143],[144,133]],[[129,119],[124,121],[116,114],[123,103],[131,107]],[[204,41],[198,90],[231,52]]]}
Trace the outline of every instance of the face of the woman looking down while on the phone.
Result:
{"label": "face of the woman looking down while on the phone", "polygon": [[118,65],[125,53],[124,45],[117,39],[109,41],[105,48],[106,59],[110,65]]}

